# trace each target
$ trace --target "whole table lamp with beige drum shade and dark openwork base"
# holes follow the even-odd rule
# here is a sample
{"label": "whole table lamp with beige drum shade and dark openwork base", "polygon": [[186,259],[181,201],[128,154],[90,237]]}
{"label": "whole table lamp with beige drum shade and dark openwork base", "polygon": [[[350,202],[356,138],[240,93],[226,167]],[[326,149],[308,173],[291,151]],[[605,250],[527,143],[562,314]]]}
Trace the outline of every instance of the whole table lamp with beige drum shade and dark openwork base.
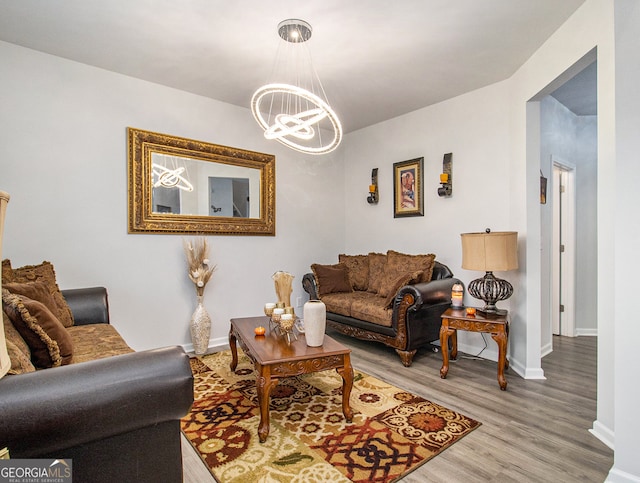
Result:
{"label": "whole table lamp with beige drum shade and dark openwork base", "polygon": [[518,268],[518,232],[462,233],[462,268],[486,272],[485,276],[469,283],[468,292],[484,301],[478,309],[482,314],[504,315],[506,310],[496,308],[496,302],[506,300],[513,294],[513,286],[506,280],[496,278],[493,272],[504,272]]}

